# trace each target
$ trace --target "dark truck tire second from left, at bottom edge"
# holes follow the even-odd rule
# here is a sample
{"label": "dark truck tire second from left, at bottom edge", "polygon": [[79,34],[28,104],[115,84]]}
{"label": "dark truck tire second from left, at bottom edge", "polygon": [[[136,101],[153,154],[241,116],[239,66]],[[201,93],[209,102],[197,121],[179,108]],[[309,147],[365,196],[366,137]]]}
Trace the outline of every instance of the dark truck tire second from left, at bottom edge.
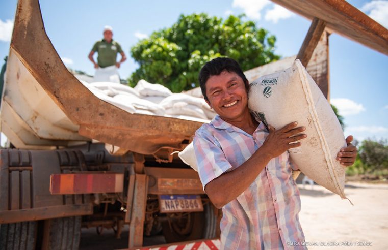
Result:
{"label": "dark truck tire second from left, at bottom edge", "polygon": [[44,221],[43,250],[77,250],[81,238],[81,216]]}

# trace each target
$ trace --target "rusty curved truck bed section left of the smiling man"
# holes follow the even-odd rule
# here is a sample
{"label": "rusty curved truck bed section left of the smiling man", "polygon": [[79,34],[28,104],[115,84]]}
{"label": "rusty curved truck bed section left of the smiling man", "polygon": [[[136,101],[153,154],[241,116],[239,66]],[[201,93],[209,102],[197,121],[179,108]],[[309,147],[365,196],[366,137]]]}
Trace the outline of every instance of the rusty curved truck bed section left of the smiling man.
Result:
{"label": "rusty curved truck bed section left of the smiling man", "polygon": [[28,149],[93,139],[142,154],[181,150],[202,124],[131,114],[94,96],[51,44],[38,0],[18,3],[0,112],[3,133]]}

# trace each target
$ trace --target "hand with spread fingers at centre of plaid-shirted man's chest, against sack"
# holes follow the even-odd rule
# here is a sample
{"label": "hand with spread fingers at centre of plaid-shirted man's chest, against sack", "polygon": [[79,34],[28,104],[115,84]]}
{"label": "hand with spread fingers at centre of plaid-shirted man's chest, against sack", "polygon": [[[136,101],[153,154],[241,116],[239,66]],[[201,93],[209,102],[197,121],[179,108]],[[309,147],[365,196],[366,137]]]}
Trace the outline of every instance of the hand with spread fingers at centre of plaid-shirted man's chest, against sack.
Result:
{"label": "hand with spread fingers at centre of plaid-shirted man's chest, against sack", "polygon": [[306,138],[305,134],[299,134],[305,130],[304,127],[298,127],[297,122],[287,124],[279,130],[275,130],[272,126],[269,127],[269,135],[263,143],[263,149],[269,152],[272,158],[284,153],[290,148],[299,147],[301,139]]}

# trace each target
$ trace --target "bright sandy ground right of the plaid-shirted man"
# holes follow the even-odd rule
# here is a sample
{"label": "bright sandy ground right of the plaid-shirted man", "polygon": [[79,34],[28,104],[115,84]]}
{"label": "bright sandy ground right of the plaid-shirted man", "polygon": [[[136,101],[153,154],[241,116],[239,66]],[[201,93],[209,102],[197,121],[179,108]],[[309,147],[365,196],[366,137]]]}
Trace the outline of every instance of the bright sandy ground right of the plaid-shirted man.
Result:
{"label": "bright sandy ground right of the plaid-shirted man", "polygon": [[354,206],[324,187],[298,187],[308,249],[388,249],[388,184],[346,182]]}

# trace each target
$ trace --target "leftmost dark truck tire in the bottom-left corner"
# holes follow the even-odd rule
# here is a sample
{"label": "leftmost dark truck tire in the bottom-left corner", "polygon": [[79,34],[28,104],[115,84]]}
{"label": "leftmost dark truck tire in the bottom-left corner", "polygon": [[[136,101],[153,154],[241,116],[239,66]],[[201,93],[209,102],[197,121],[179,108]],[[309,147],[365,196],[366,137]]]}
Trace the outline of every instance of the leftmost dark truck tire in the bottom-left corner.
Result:
{"label": "leftmost dark truck tire in the bottom-left corner", "polygon": [[0,224],[0,249],[35,249],[37,222]]}

